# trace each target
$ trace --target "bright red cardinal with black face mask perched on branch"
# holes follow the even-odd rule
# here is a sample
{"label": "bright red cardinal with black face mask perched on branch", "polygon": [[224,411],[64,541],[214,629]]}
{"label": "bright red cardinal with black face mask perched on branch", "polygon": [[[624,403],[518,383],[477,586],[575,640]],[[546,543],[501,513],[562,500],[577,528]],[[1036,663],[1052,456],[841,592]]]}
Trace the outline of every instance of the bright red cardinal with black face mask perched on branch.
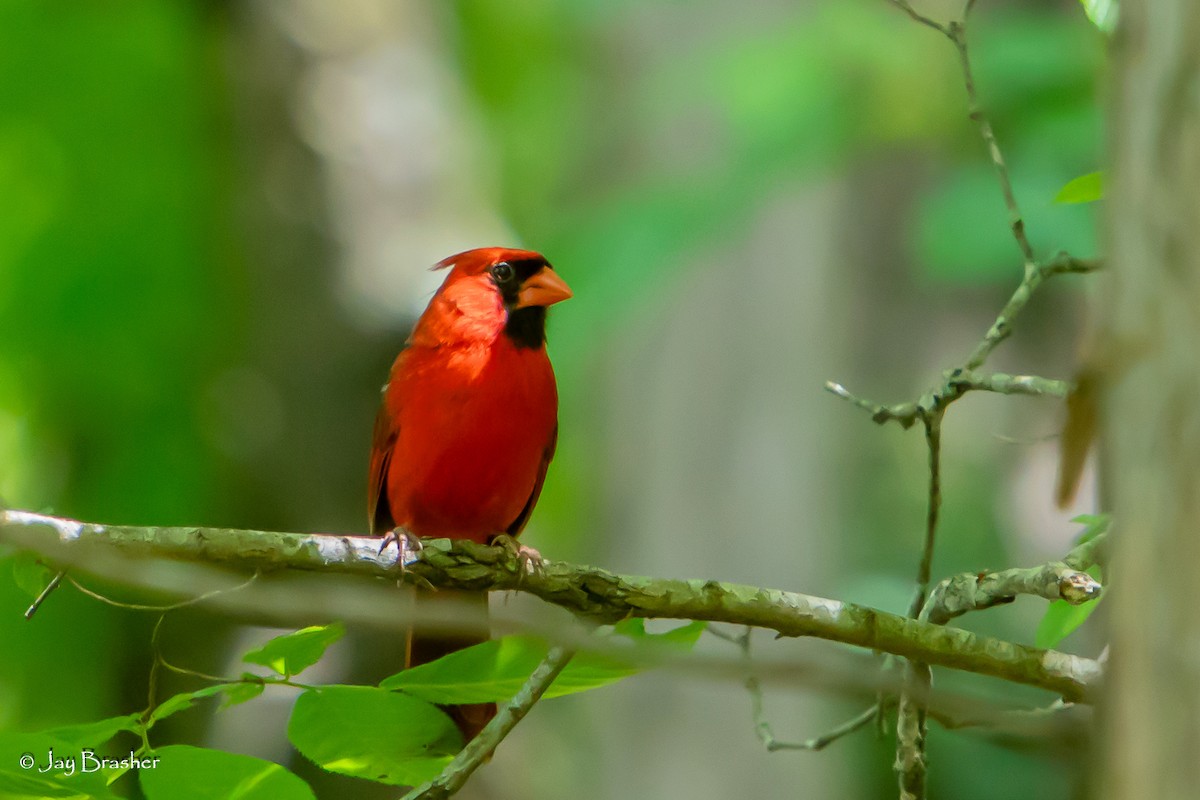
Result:
{"label": "bright red cardinal with black face mask perched on branch", "polygon": [[[384,387],[367,512],[373,535],[492,543],[529,522],[554,456],[558,390],[546,308],[571,290],[526,249],[472,249],[433,269],[446,267]],[[418,590],[419,602],[431,596]],[[486,593],[437,596],[452,596],[469,619],[452,634],[410,627],[406,667],[488,638]],[[470,740],[496,705],[445,711]]]}

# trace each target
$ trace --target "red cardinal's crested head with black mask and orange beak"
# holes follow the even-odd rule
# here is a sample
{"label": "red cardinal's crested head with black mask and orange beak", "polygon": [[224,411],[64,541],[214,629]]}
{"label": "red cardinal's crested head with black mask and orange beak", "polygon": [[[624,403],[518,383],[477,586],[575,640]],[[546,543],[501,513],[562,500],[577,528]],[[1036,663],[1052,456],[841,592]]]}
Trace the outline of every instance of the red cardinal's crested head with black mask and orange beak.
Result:
{"label": "red cardinal's crested head with black mask and orange beak", "polygon": [[494,336],[503,329],[518,348],[540,348],[546,341],[546,308],[571,297],[550,261],[529,249],[481,247],[445,258],[433,269],[449,269],[450,275],[426,314],[444,315],[445,306],[452,306],[458,315],[454,329],[463,338]]}

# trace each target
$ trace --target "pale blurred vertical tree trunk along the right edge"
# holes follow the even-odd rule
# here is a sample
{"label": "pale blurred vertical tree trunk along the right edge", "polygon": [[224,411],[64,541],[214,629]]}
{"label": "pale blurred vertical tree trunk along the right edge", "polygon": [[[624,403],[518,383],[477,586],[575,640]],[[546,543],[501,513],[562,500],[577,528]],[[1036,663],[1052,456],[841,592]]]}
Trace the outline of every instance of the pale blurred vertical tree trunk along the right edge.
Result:
{"label": "pale blurred vertical tree trunk along the right edge", "polygon": [[1111,798],[1200,786],[1200,4],[1121,5],[1102,311]]}

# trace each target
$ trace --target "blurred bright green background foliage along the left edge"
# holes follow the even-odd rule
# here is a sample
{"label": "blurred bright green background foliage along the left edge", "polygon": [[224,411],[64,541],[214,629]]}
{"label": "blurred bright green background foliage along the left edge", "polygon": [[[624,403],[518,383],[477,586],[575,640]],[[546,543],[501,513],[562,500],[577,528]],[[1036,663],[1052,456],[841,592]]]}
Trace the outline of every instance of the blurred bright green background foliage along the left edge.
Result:
{"label": "blurred bright green background foliage along the left edge", "polygon": [[[221,18],[188,2],[0,4],[10,506],[187,523],[241,505],[220,489],[229,470],[202,415],[239,343],[242,302],[222,186]],[[113,715],[131,664],[150,661],[144,620],[70,588],[26,622],[46,577],[28,561],[16,575],[0,565],[4,729]]]}

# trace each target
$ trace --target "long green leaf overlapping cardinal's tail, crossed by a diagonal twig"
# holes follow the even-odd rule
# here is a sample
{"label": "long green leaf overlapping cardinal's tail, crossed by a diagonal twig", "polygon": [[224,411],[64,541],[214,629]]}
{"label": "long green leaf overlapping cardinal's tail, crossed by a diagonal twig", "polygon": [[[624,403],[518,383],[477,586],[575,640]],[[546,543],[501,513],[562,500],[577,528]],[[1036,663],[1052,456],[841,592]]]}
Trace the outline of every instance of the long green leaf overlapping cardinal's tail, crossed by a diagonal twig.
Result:
{"label": "long green leaf overlapping cardinal's tail, crossed by a diagonal twig", "polygon": [[[690,649],[704,630],[704,622],[689,622],[665,633],[647,633],[641,619],[624,620],[612,634],[637,643],[626,654],[580,652],[546,690],[546,697],[562,697],[607,686],[642,672],[647,652],[655,648]],[[385,678],[379,686],[401,690],[431,703],[491,703],[506,700],[520,691],[530,673],[546,657],[548,648],[539,638],[506,636],[413,667]]]}

